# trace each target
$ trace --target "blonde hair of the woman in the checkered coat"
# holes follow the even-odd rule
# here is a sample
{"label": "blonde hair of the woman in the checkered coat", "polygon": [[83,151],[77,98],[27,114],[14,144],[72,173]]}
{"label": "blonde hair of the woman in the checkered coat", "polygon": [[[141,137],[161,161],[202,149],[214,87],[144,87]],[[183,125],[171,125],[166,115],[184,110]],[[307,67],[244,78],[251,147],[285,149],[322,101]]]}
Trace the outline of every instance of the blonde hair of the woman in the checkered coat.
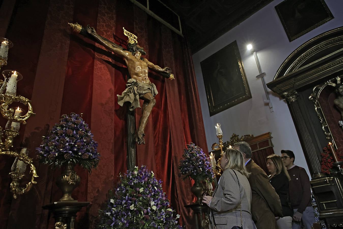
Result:
{"label": "blonde hair of the woman in the checkered coat", "polygon": [[224,166],[223,170],[235,169],[241,174],[249,177],[250,173],[245,168],[244,159],[242,153],[237,149],[226,149],[225,156],[228,159],[227,164]]}

